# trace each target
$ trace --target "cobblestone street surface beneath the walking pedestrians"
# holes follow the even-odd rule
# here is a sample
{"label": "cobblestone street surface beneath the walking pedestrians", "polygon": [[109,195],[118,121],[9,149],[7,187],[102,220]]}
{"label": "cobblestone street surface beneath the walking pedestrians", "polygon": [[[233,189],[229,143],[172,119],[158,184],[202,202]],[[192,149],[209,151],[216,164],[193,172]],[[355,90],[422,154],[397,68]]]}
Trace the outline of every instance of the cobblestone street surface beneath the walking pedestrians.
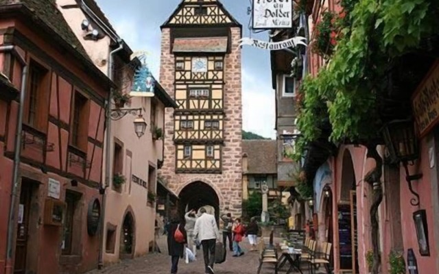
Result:
{"label": "cobblestone street surface beneath the walking pedestrians", "polygon": [[[87,274],[99,273],[121,273],[121,274],[165,274],[170,273],[170,257],[167,255],[167,250],[164,245],[164,238],[161,238],[158,245],[161,247],[162,253],[150,253],[149,255],[134,260],[125,260],[120,264],[109,266],[102,271],[91,271]],[[258,256],[256,251],[249,252],[249,245],[247,238],[244,239],[243,244],[246,251],[244,256],[239,258],[232,257],[233,253],[227,253],[227,260],[222,264],[215,264],[216,274],[255,274],[257,273]],[[286,270],[286,269],[285,269]],[[285,273],[281,271],[280,273]],[[202,274],[204,273],[204,263],[202,258],[202,250],[198,251],[198,258],[195,262],[185,264],[184,260],[180,260],[178,265],[179,274]],[[266,264],[261,270],[261,274],[274,273],[274,267]]]}

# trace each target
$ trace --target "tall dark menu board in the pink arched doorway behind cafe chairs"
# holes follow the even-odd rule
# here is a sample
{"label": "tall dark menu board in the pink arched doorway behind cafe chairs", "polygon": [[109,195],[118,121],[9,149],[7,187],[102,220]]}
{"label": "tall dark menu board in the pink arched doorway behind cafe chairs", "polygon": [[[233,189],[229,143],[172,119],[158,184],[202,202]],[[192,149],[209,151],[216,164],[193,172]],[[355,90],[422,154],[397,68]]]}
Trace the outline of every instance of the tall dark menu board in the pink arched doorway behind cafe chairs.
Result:
{"label": "tall dark menu board in the pink arched doorway behind cafe chairs", "polygon": [[340,269],[352,269],[353,249],[351,230],[351,206],[338,206],[338,238],[340,242]]}

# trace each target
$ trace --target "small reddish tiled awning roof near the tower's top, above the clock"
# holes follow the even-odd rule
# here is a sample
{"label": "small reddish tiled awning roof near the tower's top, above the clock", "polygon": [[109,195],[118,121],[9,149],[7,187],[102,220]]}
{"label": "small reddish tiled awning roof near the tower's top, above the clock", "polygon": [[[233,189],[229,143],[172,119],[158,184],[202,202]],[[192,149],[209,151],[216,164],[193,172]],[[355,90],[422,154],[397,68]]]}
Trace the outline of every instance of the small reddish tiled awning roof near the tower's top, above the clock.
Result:
{"label": "small reddish tiled awning roof near the tower's top, above the clock", "polygon": [[227,37],[176,38],[174,52],[226,52]]}

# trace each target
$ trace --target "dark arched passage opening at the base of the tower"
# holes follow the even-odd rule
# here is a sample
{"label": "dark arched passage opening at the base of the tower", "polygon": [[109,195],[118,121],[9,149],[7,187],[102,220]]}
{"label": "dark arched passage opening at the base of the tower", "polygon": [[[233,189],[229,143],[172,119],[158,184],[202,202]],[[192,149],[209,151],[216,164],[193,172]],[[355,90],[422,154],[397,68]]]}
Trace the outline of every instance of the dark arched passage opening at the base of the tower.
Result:
{"label": "dark arched passage opening at the base of the tower", "polygon": [[[208,213],[213,213],[215,219],[219,220],[219,197],[217,192],[202,181],[195,181],[187,184],[178,195],[180,215],[185,214],[186,210],[199,210],[206,206]],[[209,212],[210,211],[210,212]],[[214,211],[214,212],[212,212]]]}

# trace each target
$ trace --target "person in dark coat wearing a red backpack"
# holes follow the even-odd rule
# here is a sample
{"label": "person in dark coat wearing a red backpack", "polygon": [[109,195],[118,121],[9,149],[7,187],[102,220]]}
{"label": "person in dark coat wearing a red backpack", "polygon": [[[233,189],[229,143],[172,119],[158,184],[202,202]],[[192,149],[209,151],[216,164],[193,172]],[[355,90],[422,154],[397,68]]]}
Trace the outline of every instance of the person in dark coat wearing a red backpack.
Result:
{"label": "person in dark coat wearing a red backpack", "polygon": [[[176,230],[180,229],[185,241],[177,242],[174,238]],[[178,261],[183,258],[183,253],[185,252],[185,247],[187,245],[187,232],[185,230],[185,221],[180,219],[178,216],[174,216],[169,226],[167,227],[167,250],[169,251],[169,256],[171,256],[171,274],[176,274],[178,271]]]}

